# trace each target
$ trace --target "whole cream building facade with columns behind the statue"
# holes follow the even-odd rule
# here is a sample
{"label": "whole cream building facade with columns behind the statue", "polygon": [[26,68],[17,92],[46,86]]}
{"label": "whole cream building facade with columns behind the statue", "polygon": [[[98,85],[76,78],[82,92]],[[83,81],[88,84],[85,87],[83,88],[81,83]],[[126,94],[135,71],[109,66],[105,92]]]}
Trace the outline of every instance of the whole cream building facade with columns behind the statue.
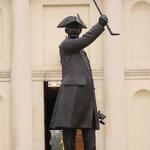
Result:
{"label": "whole cream building facade with columns behind the statue", "polygon": [[[97,150],[150,149],[150,0],[97,0],[108,30],[86,51],[97,105],[107,116]],[[80,14],[99,18],[92,0],[0,0],[0,150],[45,150],[44,81],[61,80],[56,28]],[[86,30],[83,30],[83,33]]]}

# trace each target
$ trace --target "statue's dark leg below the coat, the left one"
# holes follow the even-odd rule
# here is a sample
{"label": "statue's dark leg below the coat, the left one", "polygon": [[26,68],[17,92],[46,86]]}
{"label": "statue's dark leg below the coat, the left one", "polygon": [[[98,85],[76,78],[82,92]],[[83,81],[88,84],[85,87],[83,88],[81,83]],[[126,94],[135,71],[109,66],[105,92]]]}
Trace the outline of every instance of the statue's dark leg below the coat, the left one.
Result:
{"label": "statue's dark leg below the coat, the left one", "polygon": [[63,130],[63,141],[65,150],[75,150],[76,129],[65,128]]}

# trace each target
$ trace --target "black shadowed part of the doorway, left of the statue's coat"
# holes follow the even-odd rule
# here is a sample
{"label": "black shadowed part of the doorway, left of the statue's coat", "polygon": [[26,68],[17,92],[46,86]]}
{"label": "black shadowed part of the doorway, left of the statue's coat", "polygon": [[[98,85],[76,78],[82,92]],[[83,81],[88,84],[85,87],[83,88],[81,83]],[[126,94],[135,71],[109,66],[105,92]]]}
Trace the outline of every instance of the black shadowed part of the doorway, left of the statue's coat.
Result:
{"label": "black shadowed part of the doorway, left of the statue's coat", "polygon": [[45,150],[52,150],[50,145],[51,132],[49,128],[50,120],[59,87],[49,87],[48,81],[44,82],[44,121],[45,121]]}

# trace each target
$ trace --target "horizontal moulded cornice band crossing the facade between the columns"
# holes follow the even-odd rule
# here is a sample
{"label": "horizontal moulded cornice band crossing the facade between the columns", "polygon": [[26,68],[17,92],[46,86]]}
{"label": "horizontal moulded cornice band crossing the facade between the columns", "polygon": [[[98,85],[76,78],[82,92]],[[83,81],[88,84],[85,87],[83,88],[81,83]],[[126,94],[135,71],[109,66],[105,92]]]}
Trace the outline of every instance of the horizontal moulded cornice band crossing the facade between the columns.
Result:
{"label": "horizontal moulded cornice band crossing the facade between the columns", "polygon": [[[103,70],[93,70],[94,80],[103,80]],[[126,69],[124,73],[125,80],[150,80],[150,69]],[[60,81],[61,71],[33,71],[33,81]],[[0,72],[0,82],[10,82],[11,75],[9,71]]]}

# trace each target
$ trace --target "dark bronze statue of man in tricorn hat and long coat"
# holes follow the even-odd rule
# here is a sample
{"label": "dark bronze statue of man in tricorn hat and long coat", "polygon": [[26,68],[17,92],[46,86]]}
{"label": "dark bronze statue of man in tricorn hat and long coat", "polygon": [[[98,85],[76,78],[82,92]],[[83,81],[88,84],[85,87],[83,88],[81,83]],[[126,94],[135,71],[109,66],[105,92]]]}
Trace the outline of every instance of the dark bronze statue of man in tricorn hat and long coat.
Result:
{"label": "dark bronze statue of man in tricorn hat and long coat", "polygon": [[65,28],[67,38],[59,46],[62,65],[62,85],[56,99],[50,127],[63,129],[65,150],[75,150],[76,129],[82,129],[84,150],[96,150],[95,130],[99,129],[92,72],[84,48],[104,31],[108,19],[99,18],[82,37],[86,28],[81,18],[69,16],[58,28]]}

